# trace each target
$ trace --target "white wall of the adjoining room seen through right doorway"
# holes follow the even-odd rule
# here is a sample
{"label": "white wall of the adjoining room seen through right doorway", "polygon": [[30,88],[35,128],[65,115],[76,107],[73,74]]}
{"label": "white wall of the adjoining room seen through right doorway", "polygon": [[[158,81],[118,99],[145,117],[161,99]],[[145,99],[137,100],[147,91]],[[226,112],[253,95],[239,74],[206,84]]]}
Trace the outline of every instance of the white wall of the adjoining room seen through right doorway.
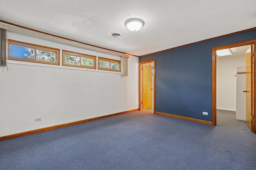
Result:
{"label": "white wall of the adjoining room seen through right doorway", "polygon": [[236,111],[236,68],[244,65],[245,55],[217,58],[217,109]]}

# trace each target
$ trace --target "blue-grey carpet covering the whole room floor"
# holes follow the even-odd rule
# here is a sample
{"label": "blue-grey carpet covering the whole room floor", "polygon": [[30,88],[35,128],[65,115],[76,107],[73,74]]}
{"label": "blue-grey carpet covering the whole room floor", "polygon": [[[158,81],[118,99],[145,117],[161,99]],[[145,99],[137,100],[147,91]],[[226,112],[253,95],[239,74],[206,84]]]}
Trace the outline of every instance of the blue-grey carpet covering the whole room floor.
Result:
{"label": "blue-grey carpet covering the whole room floor", "polygon": [[256,135],[146,111],[0,141],[1,170],[255,170]]}

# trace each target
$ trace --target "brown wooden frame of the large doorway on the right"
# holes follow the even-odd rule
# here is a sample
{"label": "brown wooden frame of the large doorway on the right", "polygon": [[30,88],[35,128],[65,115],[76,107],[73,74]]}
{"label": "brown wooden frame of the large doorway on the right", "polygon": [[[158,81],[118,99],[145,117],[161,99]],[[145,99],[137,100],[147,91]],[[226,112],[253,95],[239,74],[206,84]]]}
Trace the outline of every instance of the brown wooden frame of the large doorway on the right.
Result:
{"label": "brown wooden frame of the large doorway on the right", "polygon": [[[256,51],[256,39],[254,40],[250,40],[250,41],[244,41],[244,42],[240,42],[240,43],[234,43],[234,44],[229,44],[229,45],[222,45],[219,47],[214,47],[212,48],[212,125],[216,125],[216,110],[217,110],[217,106],[216,106],[216,51],[217,50],[221,50],[221,49],[227,49],[227,48],[232,48],[232,47],[239,47],[239,46],[243,46],[243,45],[254,45],[254,56],[253,56],[253,61],[256,62],[256,55],[255,55],[255,51]],[[253,64],[253,89],[254,87],[256,87],[256,63]],[[253,91],[253,114],[256,113],[256,90]],[[255,115],[255,114],[254,114]],[[253,132],[256,134],[256,121],[254,118],[253,121]]]}

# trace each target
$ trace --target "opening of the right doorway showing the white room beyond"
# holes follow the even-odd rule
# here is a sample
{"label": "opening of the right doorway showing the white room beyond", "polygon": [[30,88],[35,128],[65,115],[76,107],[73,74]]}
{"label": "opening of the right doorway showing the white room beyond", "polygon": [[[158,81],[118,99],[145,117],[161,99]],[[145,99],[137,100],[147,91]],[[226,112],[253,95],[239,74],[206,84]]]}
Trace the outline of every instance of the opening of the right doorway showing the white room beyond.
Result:
{"label": "opening of the right doorway showing the white room beyond", "polygon": [[246,126],[246,51],[250,45],[216,51],[217,123]]}

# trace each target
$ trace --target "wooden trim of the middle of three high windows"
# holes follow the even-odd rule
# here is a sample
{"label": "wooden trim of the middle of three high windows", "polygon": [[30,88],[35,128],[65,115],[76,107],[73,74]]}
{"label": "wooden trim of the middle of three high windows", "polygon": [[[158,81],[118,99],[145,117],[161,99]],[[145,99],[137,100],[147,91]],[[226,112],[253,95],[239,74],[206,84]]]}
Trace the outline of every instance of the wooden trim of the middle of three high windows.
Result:
{"label": "wooden trim of the middle of three high windows", "polygon": [[[67,63],[65,63],[65,55],[72,55],[72,56],[79,57],[79,60],[80,60],[79,63],[80,63],[80,65],[67,64]],[[81,65],[81,57],[93,59],[93,66],[83,66],[83,65]],[[94,55],[82,54],[82,53],[76,53],[76,52],[73,52],[73,51],[62,50],[62,66],[70,66],[70,67],[79,67],[79,68],[96,69],[96,56],[94,56]]]}

